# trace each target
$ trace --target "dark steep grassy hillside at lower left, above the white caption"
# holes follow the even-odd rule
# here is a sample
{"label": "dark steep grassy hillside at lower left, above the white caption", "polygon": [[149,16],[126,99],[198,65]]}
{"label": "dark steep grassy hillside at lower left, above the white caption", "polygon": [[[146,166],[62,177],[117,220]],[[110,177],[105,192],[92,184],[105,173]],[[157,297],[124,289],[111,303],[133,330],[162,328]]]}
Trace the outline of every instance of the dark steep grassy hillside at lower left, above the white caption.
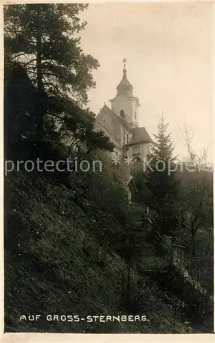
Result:
{"label": "dark steep grassy hillside at lower left, above the white caption", "polygon": [[[185,333],[174,295],[131,272],[133,305],[124,304],[126,261],[111,242],[124,230],[94,202],[33,174],[5,180],[5,331]],[[118,236],[119,239],[120,236]],[[132,305],[132,304],[131,304]],[[38,321],[21,315],[41,314]],[[47,321],[54,315],[144,315],[146,322]],[[190,328],[190,332],[193,331]]]}

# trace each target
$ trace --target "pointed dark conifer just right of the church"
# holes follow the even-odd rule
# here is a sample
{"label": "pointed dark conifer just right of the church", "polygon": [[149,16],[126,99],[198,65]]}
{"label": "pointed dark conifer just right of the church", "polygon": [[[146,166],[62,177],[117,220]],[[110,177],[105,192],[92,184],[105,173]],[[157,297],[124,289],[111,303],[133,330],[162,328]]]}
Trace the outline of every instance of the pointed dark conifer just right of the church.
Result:
{"label": "pointed dark conifer just right of the church", "polygon": [[161,234],[172,234],[179,224],[175,204],[180,180],[177,172],[173,171],[174,147],[167,128],[168,123],[162,115],[157,134],[154,134],[155,142],[152,144],[149,167],[146,171],[146,185],[149,191],[147,202],[154,213],[155,228]]}

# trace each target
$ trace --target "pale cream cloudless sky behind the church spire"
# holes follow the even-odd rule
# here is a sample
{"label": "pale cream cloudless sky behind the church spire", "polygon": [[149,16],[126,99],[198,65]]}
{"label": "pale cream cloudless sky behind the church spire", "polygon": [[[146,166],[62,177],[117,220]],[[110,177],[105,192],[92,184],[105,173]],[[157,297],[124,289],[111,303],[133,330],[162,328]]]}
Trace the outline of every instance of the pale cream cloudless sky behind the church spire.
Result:
{"label": "pale cream cloudless sky behind the church spire", "polygon": [[89,108],[98,114],[115,97],[126,58],[128,80],[139,97],[139,126],[153,138],[163,117],[175,154],[186,156],[184,125],[196,154],[212,161],[212,5],[210,3],[91,3],[81,14],[86,54],[100,62]]}

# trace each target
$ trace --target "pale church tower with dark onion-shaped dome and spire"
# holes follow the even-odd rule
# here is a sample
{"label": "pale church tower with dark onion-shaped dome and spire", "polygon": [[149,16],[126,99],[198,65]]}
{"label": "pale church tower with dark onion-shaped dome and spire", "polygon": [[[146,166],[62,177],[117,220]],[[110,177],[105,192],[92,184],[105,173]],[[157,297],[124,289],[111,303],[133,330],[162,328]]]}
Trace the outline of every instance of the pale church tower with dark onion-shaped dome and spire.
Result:
{"label": "pale church tower with dark onion-shaped dome and spire", "polygon": [[117,95],[114,99],[111,99],[111,110],[125,119],[130,128],[138,127],[138,107],[139,99],[133,96],[133,86],[128,81],[126,71],[126,59],[124,58],[124,69],[122,80],[117,86]]}

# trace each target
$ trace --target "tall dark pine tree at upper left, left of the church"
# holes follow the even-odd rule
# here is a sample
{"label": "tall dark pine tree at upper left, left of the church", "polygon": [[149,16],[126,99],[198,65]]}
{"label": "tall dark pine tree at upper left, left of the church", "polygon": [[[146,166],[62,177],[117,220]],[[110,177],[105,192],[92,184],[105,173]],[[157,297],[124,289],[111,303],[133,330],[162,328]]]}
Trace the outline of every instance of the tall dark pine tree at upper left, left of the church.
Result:
{"label": "tall dark pine tree at upper left, left of the church", "polygon": [[84,54],[77,36],[87,24],[78,17],[85,8],[59,3],[6,5],[5,60],[19,63],[36,88],[31,114],[38,143],[55,132],[57,139],[70,145],[72,137],[74,145],[96,142],[112,150],[102,132],[93,133],[95,116],[84,108],[87,91],[95,86],[91,72],[99,67],[98,60]]}

